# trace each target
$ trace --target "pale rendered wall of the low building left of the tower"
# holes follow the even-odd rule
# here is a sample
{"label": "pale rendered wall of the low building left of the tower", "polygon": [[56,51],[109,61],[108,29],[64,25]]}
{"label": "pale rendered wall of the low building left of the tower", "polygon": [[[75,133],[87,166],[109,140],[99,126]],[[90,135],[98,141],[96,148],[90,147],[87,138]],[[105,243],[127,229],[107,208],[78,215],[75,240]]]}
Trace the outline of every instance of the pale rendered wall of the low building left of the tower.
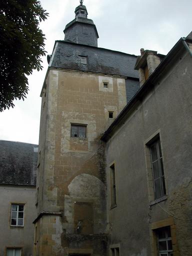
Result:
{"label": "pale rendered wall of the low building left of the tower", "polygon": [[[34,201],[34,186],[0,185],[0,255],[6,255],[6,247],[20,247],[24,256],[33,255]],[[24,203],[23,227],[10,226],[11,203]]]}

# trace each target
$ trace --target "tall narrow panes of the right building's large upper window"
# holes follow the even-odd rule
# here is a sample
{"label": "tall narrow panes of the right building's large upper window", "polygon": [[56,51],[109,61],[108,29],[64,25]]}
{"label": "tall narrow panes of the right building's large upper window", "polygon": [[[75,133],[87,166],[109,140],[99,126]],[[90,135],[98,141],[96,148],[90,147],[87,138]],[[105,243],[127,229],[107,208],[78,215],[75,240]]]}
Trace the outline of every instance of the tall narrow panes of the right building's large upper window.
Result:
{"label": "tall narrow panes of the right building's large upper window", "polygon": [[149,148],[152,165],[154,197],[157,199],[166,194],[160,139],[157,138],[152,142],[149,145]]}

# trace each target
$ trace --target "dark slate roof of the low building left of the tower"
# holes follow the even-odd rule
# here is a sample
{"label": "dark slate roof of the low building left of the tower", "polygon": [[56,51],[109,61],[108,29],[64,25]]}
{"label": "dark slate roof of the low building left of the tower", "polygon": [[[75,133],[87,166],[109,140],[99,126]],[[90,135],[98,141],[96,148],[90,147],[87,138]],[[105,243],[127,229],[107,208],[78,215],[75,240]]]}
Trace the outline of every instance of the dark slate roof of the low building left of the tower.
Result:
{"label": "dark slate roof of the low building left of the tower", "polygon": [[0,140],[0,184],[36,184],[38,145]]}

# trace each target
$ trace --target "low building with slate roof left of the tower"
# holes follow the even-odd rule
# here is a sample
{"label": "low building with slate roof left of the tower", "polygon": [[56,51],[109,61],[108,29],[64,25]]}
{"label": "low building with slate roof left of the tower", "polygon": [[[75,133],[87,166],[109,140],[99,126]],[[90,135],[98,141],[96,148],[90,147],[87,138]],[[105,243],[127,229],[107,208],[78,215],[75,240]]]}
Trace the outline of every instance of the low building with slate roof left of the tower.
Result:
{"label": "low building with slate roof left of the tower", "polygon": [[32,256],[38,145],[0,140],[0,255]]}

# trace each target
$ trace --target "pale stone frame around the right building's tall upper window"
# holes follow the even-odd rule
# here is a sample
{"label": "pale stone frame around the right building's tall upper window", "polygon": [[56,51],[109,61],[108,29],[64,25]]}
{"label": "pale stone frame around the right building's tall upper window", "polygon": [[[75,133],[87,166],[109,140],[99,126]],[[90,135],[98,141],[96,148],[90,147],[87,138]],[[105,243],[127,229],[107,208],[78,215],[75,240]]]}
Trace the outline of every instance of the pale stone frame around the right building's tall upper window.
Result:
{"label": "pale stone frame around the right building's tall upper window", "polygon": [[[159,137],[159,140],[160,140],[160,148],[161,148],[161,154],[162,154],[162,164],[163,164],[163,167],[164,167],[163,147],[162,147],[162,143],[161,143],[162,139],[161,139],[160,129],[156,130],[150,137],[148,137],[144,141],[145,165],[146,165],[146,176],[147,176],[149,205],[153,205],[155,203],[158,203],[162,200],[167,199],[167,194],[162,195],[159,198],[155,198],[155,193],[154,193],[151,154],[150,154],[149,145],[152,144],[152,142],[155,141],[158,137]],[[164,184],[165,184],[165,191],[167,191],[165,170],[164,170]]]}

